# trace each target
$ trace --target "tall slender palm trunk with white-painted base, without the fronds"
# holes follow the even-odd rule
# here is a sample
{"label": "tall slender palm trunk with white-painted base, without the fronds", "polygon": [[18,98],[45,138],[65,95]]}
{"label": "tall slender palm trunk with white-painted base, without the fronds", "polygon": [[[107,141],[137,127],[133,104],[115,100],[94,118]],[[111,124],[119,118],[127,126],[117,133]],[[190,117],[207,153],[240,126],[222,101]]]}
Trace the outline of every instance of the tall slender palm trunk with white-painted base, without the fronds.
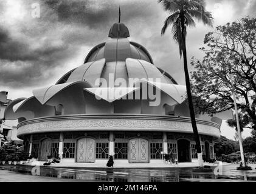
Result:
{"label": "tall slender palm trunk with white-painted base, without the fronds", "polygon": [[204,162],[202,161],[202,149],[201,149],[201,142],[199,139],[199,134],[198,134],[198,129],[196,127],[196,118],[195,118],[195,112],[193,109],[193,101],[192,101],[192,95],[191,95],[191,89],[190,89],[190,78],[189,78],[189,70],[187,68],[187,49],[186,49],[186,44],[185,44],[185,36],[184,36],[184,24],[182,25],[182,38],[183,41],[183,61],[184,61],[184,72],[185,72],[185,84],[187,88],[187,99],[189,101],[189,111],[190,111],[190,118],[191,118],[191,124],[192,124],[192,129],[193,133],[195,136],[195,141],[196,141],[196,152],[198,153],[198,162],[199,162],[199,167],[204,166]]}

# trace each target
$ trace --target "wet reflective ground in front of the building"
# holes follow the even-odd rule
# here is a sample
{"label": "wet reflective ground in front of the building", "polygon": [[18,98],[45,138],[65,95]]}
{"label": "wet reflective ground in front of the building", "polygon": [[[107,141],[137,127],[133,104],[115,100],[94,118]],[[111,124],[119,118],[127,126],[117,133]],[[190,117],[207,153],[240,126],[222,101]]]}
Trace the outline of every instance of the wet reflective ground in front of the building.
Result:
{"label": "wet reflective ground in front of the building", "polygon": [[254,170],[236,170],[237,165],[213,167],[213,172],[192,172],[193,168],[169,169],[64,169],[57,167],[0,166],[27,175],[48,176],[58,179],[109,182],[180,182],[180,181],[256,181]]}

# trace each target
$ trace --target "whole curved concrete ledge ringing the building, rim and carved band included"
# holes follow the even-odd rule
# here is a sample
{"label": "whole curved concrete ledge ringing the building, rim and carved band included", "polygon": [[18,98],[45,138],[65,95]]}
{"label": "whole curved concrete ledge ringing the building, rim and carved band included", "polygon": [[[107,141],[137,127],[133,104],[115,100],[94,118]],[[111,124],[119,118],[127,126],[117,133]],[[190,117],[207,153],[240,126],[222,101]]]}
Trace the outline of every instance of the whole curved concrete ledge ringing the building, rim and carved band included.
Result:
{"label": "whole curved concrete ledge ringing the building, rim and carved band included", "polygon": [[[197,119],[198,133],[220,137],[220,125]],[[193,133],[190,118],[157,115],[66,115],[36,118],[18,124],[18,137],[33,133],[72,131],[154,131]]]}

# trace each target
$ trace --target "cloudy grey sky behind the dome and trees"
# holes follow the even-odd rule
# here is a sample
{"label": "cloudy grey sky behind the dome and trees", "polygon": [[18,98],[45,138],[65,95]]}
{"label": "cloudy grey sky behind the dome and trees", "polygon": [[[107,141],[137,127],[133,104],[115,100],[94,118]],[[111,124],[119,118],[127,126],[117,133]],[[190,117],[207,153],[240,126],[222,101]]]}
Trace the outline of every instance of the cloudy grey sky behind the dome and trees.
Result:
{"label": "cloudy grey sky behind the dome and trees", "polygon": [[[32,16],[33,4],[40,5],[40,18]],[[161,36],[168,13],[157,0],[1,0],[0,91],[8,91],[10,99],[30,97],[32,89],[55,84],[64,73],[83,64],[89,50],[108,38],[109,28],[118,21],[119,5],[131,40],[147,48],[156,66],[185,84],[171,29]],[[206,8],[215,26],[256,15],[255,0],[211,0]],[[188,31],[188,58],[202,58],[199,47],[214,28],[197,23]],[[225,123],[221,130],[233,138],[234,130]]]}

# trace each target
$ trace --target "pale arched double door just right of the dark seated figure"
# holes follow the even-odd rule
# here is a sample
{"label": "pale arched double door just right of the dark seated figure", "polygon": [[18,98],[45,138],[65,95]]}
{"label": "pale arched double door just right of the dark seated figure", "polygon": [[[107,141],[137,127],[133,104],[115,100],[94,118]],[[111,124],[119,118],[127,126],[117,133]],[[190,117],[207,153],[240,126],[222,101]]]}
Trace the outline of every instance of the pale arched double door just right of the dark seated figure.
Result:
{"label": "pale arched double door just right of the dark seated figure", "polygon": [[131,139],[129,143],[129,162],[148,162],[148,141],[142,138]]}

